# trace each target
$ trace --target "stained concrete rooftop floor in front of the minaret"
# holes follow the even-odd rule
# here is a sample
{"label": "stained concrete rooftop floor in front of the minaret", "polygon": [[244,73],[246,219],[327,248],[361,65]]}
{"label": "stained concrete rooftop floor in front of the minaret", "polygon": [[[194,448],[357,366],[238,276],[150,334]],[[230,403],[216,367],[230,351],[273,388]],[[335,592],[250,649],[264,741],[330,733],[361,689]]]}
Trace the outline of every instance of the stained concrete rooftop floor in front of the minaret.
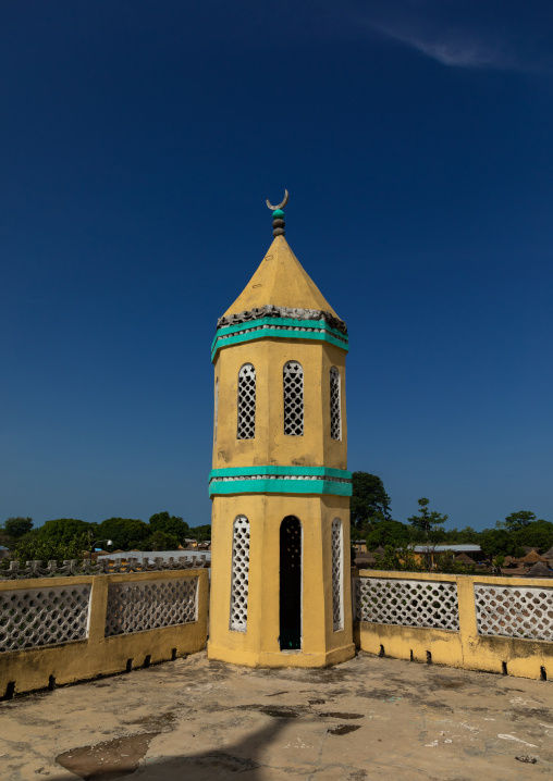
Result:
{"label": "stained concrete rooftop floor in front of the minaret", "polygon": [[2,781],[124,777],[553,777],[553,684],[367,654],[251,670],[202,653],[0,703]]}

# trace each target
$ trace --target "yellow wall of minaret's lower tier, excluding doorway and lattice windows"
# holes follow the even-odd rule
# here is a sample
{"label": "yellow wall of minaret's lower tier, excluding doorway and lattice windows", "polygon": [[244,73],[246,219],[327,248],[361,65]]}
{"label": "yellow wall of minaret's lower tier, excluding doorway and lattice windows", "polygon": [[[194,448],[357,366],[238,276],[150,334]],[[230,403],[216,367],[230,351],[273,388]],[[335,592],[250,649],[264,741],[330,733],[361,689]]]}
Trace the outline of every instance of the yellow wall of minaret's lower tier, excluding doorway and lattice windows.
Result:
{"label": "yellow wall of minaret's lower tier, excluding doorway and lattice windows", "polygon": [[[230,629],[233,523],[250,523],[247,631]],[[279,647],[280,524],[303,528],[302,653]],[[344,629],[333,631],[331,524],[343,523]],[[213,497],[210,659],[267,667],[323,667],[354,655],[351,620],[349,500],[347,497],[244,494]]]}

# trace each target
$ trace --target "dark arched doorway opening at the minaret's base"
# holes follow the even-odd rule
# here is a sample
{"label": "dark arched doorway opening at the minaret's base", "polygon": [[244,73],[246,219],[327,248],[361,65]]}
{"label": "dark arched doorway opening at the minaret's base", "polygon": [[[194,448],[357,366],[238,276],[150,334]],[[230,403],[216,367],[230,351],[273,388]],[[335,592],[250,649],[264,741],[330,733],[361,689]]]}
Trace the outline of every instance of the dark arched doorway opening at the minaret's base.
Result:
{"label": "dark arched doorway opening at the minaret's base", "polygon": [[281,650],[302,647],[302,524],[295,516],[281,523],[280,540],[280,646]]}

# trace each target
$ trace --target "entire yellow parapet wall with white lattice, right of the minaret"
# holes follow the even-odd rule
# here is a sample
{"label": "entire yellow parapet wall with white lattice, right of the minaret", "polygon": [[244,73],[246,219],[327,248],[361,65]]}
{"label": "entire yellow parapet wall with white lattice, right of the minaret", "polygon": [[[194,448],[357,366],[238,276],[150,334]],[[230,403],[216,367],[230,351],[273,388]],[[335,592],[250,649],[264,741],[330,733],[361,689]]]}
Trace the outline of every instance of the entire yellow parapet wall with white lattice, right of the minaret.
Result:
{"label": "entire yellow parapet wall with white lattice, right of the minaret", "polygon": [[553,679],[551,581],[359,570],[354,593],[362,650]]}

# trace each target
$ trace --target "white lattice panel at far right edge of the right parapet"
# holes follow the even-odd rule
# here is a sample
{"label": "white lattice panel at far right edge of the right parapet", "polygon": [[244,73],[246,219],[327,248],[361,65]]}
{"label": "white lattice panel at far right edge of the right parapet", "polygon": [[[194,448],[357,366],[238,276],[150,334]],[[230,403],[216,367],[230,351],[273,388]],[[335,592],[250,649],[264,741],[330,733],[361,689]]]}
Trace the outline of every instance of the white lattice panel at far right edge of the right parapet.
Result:
{"label": "white lattice panel at far right edge of the right parapet", "polygon": [[479,634],[553,641],[553,588],[475,584]]}

